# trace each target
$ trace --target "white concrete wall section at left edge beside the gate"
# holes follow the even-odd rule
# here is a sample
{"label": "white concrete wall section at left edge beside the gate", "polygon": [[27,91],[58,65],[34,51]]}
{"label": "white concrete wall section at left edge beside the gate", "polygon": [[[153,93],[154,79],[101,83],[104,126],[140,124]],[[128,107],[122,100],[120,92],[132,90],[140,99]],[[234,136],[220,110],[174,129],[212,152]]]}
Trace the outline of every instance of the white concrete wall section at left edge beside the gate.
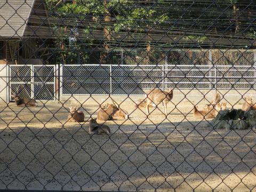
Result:
{"label": "white concrete wall section at left edge beside the gate", "polygon": [[0,102],[9,102],[7,89],[7,65],[0,65]]}

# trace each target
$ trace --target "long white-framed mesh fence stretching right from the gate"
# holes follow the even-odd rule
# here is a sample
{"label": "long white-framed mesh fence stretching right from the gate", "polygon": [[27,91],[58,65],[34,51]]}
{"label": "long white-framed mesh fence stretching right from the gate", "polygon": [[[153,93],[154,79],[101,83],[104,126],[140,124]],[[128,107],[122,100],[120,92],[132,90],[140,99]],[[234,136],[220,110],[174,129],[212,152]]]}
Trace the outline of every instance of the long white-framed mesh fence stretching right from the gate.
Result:
{"label": "long white-framed mesh fence stretching right from the gate", "polygon": [[[155,87],[169,89],[255,89],[254,66],[62,65],[61,93],[142,95]],[[100,89],[95,89],[100,87]]]}

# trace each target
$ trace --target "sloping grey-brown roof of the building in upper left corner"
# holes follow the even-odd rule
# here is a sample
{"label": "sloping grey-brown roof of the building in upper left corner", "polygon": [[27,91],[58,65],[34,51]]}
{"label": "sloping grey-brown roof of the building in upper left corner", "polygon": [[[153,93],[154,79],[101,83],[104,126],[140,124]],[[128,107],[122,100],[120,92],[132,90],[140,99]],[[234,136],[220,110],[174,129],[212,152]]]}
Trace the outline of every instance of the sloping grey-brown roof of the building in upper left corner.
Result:
{"label": "sloping grey-brown roof of the building in upper left corner", "polygon": [[38,0],[0,1],[0,37],[23,37],[29,17],[37,1]]}

